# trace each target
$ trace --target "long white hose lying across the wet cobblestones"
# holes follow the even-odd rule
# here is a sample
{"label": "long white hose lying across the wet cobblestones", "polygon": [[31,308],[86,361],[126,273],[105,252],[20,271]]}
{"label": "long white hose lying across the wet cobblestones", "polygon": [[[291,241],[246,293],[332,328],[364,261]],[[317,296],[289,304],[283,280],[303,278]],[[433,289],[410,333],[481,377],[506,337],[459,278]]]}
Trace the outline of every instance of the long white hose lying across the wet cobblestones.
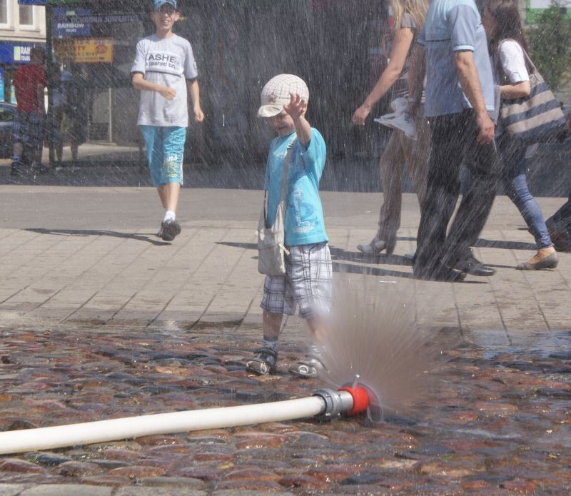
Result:
{"label": "long white hose lying across the wet cobblestones", "polygon": [[11,430],[0,432],[0,455],[88,445],[156,434],[293,420],[320,415],[325,411],[325,407],[323,398],[310,396],[298,400],[258,405],[159,413],[39,429]]}

